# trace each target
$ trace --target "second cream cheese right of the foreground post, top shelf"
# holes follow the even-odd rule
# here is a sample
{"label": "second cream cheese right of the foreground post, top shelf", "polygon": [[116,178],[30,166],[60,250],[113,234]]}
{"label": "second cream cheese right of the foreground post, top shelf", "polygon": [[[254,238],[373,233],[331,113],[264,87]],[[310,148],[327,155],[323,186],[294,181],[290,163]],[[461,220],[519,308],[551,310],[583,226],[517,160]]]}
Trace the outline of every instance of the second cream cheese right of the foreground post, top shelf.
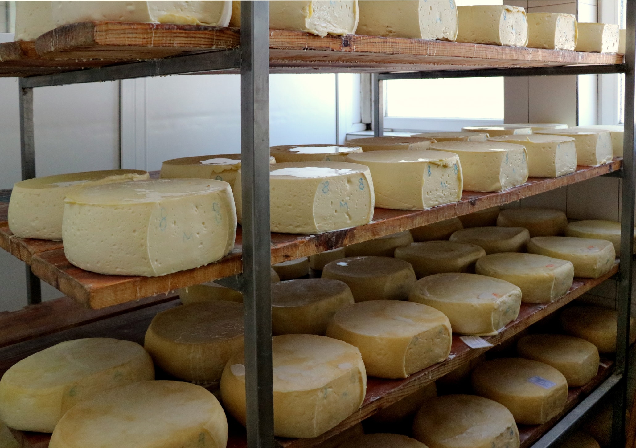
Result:
{"label": "second cream cheese right of the foreground post, top shelf", "polygon": [[454,41],[457,37],[455,1],[358,1],[356,34]]}

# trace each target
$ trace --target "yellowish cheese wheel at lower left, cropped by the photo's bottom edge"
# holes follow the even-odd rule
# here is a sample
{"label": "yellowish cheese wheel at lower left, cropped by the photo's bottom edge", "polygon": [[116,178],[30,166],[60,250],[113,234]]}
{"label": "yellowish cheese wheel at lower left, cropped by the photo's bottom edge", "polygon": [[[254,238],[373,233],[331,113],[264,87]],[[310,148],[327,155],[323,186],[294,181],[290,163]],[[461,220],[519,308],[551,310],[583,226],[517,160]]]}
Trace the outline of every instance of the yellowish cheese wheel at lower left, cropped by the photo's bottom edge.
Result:
{"label": "yellowish cheese wheel at lower left, cropped by the photo's bottom edge", "polygon": [[227,441],[228,420],[212,393],[183,381],[144,381],[83,400],[62,417],[49,447],[223,448]]}

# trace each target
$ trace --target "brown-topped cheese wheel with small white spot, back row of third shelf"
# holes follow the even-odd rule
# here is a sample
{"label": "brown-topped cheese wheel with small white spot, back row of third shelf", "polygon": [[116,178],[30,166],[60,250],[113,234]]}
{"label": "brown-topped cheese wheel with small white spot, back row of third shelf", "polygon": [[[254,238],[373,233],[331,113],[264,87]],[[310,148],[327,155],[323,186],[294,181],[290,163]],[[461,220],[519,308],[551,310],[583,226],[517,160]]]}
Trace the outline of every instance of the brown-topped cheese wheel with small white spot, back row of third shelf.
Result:
{"label": "brown-topped cheese wheel with small white spot, back row of third shelf", "polygon": [[415,283],[410,263],[389,257],[347,257],[322,269],[323,278],[347,283],[356,302],[404,300]]}

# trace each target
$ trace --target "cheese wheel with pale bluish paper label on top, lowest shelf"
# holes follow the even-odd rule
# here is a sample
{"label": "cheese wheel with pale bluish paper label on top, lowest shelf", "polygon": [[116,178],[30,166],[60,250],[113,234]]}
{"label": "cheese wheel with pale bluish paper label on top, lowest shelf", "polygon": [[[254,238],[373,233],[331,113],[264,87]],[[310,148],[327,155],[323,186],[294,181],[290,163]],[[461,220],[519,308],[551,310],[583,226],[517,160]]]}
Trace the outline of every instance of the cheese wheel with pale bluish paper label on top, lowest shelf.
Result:
{"label": "cheese wheel with pale bluish paper label on top, lowest shelf", "polygon": [[485,361],[473,371],[477,395],[506,406],[516,423],[543,424],[563,411],[567,381],[543,362],[523,358]]}

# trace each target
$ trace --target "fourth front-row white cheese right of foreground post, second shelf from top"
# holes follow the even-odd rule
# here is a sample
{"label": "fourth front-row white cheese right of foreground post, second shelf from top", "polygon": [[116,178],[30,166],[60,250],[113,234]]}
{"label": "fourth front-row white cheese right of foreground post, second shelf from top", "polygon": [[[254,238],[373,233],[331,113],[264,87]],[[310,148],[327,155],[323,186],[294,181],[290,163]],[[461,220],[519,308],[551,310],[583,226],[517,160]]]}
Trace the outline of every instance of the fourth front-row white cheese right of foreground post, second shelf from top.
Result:
{"label": "fourth front-row white cheese right of foreground post, second shelf from top", "polygon": [[529,177],[559,177],[576,171],[576,146],[572,137],[540,134],[502,135],[488,140],[525,146]]}

